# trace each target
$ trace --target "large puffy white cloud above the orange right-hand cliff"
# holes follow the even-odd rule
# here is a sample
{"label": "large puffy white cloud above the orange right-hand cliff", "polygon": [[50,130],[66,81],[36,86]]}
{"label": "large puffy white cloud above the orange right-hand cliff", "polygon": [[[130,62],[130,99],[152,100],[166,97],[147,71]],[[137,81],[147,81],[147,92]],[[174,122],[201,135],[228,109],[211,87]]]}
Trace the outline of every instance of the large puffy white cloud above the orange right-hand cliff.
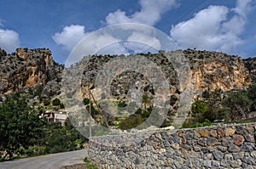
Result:
{"label": "large puffy white cloud above the orange right-hand cliff", "polygon": [[224,40],[219,28],[227,14],[226,7],[210,6],[195,14],[194,18],[172,26],[171,37],[182,48],[219,48]]}

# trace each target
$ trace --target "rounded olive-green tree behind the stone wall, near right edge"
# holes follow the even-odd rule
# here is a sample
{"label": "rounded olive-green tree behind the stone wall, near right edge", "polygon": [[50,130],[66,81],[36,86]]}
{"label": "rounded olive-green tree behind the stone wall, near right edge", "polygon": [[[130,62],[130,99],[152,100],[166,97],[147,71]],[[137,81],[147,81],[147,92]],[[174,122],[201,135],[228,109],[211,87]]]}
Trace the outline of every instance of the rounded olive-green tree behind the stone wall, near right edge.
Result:
{"label": "rounded olive-green tree behind the stone wall, near right edge", "polygon": [[241,118],[247,117],[252,104],[245,91],[229,93],[222,101],[224,109],[230,114],[231,121],[241,121]]}

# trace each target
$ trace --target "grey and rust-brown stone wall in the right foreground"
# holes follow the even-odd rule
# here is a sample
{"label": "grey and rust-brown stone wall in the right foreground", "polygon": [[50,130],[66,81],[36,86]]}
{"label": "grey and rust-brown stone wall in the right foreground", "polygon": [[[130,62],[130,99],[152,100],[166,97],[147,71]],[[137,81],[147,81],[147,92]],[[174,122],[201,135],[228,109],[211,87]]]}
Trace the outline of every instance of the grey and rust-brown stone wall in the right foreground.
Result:
{"label": "grey and rust-brown stone wall in the right foreground", "polygon": [[90,139],[99,168],[256,168],[256,123]]}

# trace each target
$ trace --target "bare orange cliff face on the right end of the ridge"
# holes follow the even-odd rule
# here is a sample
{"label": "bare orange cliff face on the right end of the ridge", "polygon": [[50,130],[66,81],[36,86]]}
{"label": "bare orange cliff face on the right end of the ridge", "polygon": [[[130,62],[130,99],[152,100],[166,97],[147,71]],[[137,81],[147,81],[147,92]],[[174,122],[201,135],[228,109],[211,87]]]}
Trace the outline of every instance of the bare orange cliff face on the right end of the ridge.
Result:
{"label": "bare orange cliff face on the right end of the ridge", "polygon": [[195,93],[217,89],[228,92],[251,84],[250,72],[239,57],[195,50],[185,50],[183,54],[189,59]]}

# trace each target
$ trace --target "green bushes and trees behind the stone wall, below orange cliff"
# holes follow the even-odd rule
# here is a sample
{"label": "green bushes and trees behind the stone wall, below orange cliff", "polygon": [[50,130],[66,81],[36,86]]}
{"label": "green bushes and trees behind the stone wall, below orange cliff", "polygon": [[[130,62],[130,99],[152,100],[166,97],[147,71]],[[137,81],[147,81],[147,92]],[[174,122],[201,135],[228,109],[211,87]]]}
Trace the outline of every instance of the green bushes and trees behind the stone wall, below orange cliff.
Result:
{"label": "green bushes and trees behind the stone wall, below orange cliff", "polygon": [[[203,95],[207,98],[207,103],[195,100],[191,105],[190,117],[183,123],[183,127],[211,126],[216,120],[227,123],[248,121],[249,114],[255,111],[255,84],[247,90],[226,93],[224,99],[220,99],[219,91]],[[216,104],[217,102],[220,104]]]}

